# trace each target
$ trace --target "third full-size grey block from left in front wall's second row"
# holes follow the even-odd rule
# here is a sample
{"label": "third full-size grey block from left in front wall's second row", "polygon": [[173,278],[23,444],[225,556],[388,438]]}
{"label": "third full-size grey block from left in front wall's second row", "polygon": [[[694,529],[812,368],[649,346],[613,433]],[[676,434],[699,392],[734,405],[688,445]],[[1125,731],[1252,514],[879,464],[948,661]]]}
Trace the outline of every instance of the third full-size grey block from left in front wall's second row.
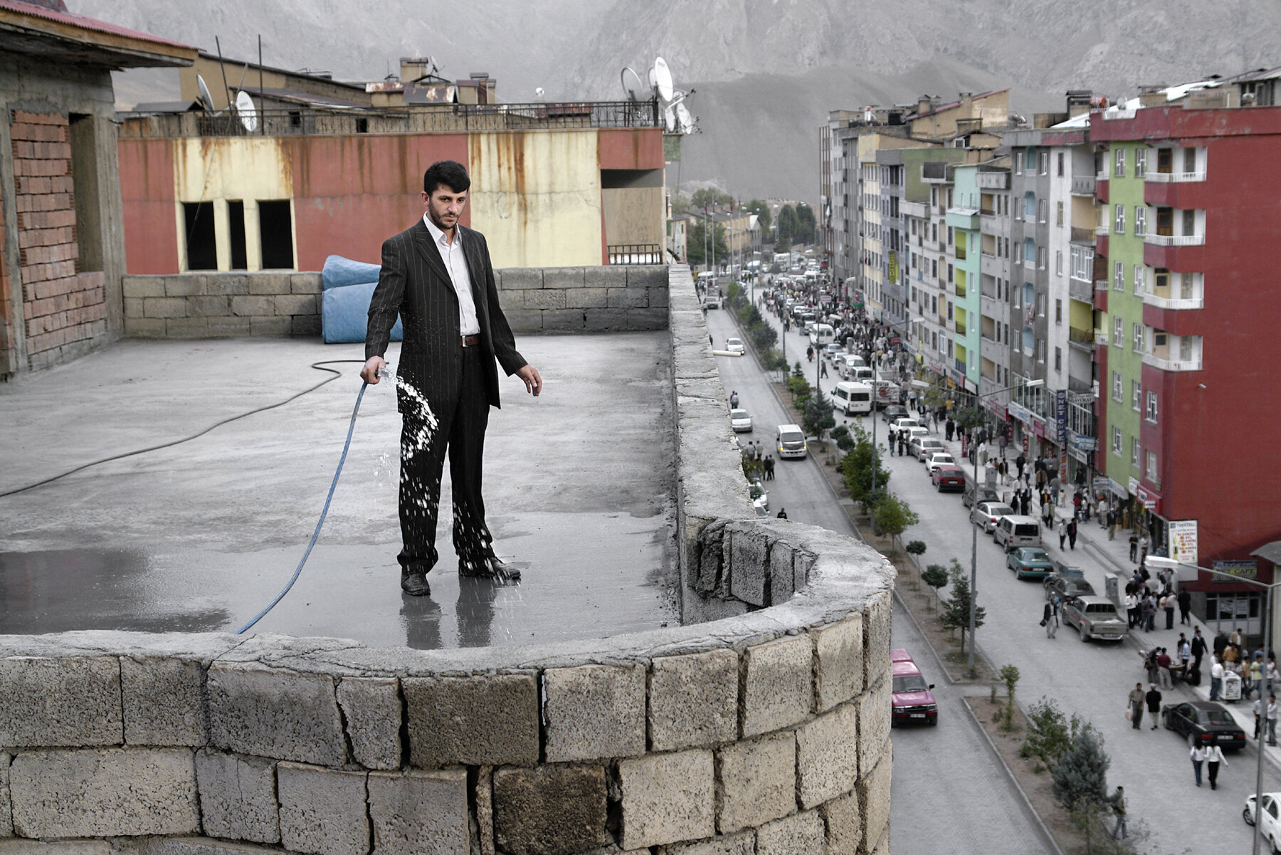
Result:
{"label": "third full-size grey block from left in front wall's second row", "polygon": [[296,852],[366,855],[365,772],[282,763],[275,769],[281,843]]}

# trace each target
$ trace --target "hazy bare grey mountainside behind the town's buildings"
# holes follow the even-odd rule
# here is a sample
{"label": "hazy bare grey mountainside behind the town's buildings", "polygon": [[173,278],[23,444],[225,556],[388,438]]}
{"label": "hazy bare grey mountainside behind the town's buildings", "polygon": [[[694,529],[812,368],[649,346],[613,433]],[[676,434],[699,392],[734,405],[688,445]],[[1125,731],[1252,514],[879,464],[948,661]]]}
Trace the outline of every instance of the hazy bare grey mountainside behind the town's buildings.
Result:
{"label": "hazy bare grey mountainside behind the town's buildings", "polygon": [[[828,110],[1011,86],[1016,110],[1056,109],[1067,88],[1132,95],[1281,63],[1281,5],[1267,0],[70,0],[73,10],[223,53],[338,79],[379,78],[432,54],[442,73],[485,71],[507,101],[621,96],[619,69],[667,59],[697,88],[702,133],[669,181],[743,195],[817,195]],[[122,76],[119,100],[175,97],[170,73]],[[168,82],[165,82],[168,81]],[[214,85],[214,82],[210,82]],[[165,91],[168,87],[168,91]]]}

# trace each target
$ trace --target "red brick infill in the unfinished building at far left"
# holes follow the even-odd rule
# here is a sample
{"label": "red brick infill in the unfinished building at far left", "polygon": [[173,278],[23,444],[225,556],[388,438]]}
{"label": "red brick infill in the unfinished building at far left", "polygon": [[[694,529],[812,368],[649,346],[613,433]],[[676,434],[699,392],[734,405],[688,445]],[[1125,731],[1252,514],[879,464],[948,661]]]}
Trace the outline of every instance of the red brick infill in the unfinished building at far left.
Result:
{"label": "red brick infill in the unfinished building at far left", "polygon": [[14,201],[32,369],[73,356],[106,333],[102,273],[77,269],[69,133],[65,115],[13,112]]}

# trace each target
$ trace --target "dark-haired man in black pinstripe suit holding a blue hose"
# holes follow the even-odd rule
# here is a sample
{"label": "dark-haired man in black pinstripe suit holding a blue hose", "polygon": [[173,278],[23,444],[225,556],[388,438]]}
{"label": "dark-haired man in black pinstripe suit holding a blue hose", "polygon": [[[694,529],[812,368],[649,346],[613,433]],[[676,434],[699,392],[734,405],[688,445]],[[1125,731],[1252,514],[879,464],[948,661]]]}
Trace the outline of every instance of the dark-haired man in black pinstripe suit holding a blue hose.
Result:
{"label": "dark-haired man in black pinstripe suit holding a blue hose", "polygon": [[519,579],[520,570],[493,554],[480,496],[484,431],[498,406],[498,372],[516,374],[538,395],[543,379],[516,351],[498,305],[489,247],[480,232],[459,224],[471,179],[462,164],[441,160],[423,176],[423,219],[383,242],[383,265],[369,304],[365,367],[377,383],[396,317],[405,341],[396,379],[401,428],[401,590],[430,594],[436,519],[446,451],[453,490],[453,550],[459,573]]}

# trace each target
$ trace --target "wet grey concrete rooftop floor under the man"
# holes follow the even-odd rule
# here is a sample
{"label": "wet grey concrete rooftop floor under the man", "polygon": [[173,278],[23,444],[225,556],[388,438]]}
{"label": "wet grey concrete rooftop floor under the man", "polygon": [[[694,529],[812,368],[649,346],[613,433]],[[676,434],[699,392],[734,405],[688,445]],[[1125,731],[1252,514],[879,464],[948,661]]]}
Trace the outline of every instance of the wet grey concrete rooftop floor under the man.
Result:
{"label": "wet grey concrete rooftop floor under the man", "polygon": [[[392,385],[370,387],[316,547],[251,632],[428,649],[675,623],[666,338],[518,340],[546,386],[535,400],[518,378],[501,381],[484,474],[494,549],[524,568],[516,586],[459,578],[446,467],[432,595],[401,594],[400,417]],[[359,364],[199,438],[3,494],[275,404],[328,376],[311,363],[363,353],[302,340],[123,341],[0,385],[0,633],[240,628],[311,537]]]}

